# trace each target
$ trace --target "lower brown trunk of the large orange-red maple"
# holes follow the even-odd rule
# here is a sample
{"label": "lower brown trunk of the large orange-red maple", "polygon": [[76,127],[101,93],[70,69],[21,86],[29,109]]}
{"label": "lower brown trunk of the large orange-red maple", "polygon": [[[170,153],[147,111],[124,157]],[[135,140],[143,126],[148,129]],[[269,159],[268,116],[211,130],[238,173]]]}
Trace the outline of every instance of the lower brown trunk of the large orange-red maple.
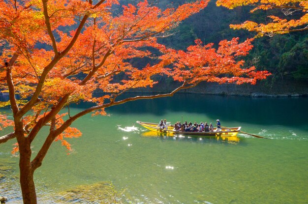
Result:
{"label": "lower brown trunk of the large orange-red maple", "polygon": [[19,148],[20,186],[23,194],[23,201],[24,204],[37,204],[33,180],[34,170],[31,165],[31,144],[26,139],[23,145],[19,144]]}

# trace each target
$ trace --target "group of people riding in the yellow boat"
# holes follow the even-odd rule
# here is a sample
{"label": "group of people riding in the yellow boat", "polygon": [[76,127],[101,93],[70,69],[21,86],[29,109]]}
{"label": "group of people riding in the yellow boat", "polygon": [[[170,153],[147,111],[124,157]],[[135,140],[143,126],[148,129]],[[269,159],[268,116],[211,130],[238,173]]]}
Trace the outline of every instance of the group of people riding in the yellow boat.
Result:
{"label": "group of people riding in the yellow boat", "polygon": [[[213,132],[213,131],[221,131],[221,127],[220,127],[220,121],[219,119],[216,120],[216,125],[217,128],[214,130],[214,126],[212,124],[212,122],[210,124],[208,124],[208,122],[200,122],[200,124],[198,124],[197,122],[194,122],[192,124],[192,122],[187,123],[187,121],[185,121],[183,124],[181,124],[181,122],[176,122],[174,124],[174,128],[173,131],[182,131],[182,132]],[[160,129],[168,129],[168,125],[167,125],[167,120],[160,120],[159,124],[157,125],[158,128]]]}

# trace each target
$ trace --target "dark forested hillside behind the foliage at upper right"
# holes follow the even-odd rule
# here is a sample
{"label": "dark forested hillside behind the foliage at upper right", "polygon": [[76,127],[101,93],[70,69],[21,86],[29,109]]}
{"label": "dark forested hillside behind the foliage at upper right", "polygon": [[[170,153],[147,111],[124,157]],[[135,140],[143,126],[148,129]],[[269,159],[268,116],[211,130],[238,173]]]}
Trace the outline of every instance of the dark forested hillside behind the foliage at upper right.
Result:
{"label": "dark forested hillside behind the foliage at upper right", "polygon": [[[173,3],[182,0],[174,0]],[[250,19],[265,23],[271,11],[258,11],[249,13],[249,7],[238,7],[233,10],[217,7],[212,0],[200,13],[190,17],[179,28],[174,36],[163,39],[170,46],[185,49],[197,38],[204,43],[215,43],[222,39],[232,37],[253,37],[255,33],[246,30],[233,30],[230,24],[240,24]],[[272,11],[273,12],[273,11]],[[275,15],[283,16],[282,11],[276,11]],[[296,18],[297,13],[289,18]],[[304,80],[308,81],[308,31],[290,32],[273,37],[264,36],[256,38],[253,42],[254,49],[246,57],[247,62],[255,63],[260,70],[269,70],[273,75],[268,80]]]}

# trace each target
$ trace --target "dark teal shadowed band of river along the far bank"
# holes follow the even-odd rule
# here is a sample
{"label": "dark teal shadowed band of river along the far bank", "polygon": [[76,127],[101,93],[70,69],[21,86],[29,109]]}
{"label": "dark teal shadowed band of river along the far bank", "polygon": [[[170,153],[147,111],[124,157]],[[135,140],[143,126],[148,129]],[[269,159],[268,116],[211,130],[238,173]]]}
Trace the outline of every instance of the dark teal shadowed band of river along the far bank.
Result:
{"label": "dark teal shadowed band of river along the far bank", "polygon": [[307,128],[308,98],[252,98],[244,96],[217,96],[175,94],[173,97],[127,102],[107,111],[120,114],[155,114],[171,112],[205,114],[225,121],[255,124],[292,125]]}

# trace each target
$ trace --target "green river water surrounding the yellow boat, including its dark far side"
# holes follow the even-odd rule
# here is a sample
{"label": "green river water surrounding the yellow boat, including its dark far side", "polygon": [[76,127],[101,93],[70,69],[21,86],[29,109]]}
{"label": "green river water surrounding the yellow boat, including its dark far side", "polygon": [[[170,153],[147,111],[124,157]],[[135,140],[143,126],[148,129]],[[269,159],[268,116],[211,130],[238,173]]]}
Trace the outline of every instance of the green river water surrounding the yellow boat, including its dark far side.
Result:
{"label": "green river water surrounding the yellow boat, including its dark far side", "polygon": [[[88,104],[71,108],[77,113]],[[307,204],[308,98],[250,98],[176,94],[128,102],[73,123],[83,136],[55,142],[35,173],[38,203],[60,204],[58,192],[111,181],[125,189],[127,204]],[[72,113],[71,113],[72,114]],[[147,136],[136,120],[187,120],[242,126],[258,139],[238,134],[239,142],[215,138]],[[46,129],[47,130],[47,129]],[[37,152],[46,132],[32,145]],[[2,130],[1,135],[10,130]],[[0,196],[20,204],[18,157],[12,140],[0,145],[0,162],[12,169],[0,179]],[[70,202],[74,203],[74,202]],[[76,202],[77,203],[77,202]]]}

